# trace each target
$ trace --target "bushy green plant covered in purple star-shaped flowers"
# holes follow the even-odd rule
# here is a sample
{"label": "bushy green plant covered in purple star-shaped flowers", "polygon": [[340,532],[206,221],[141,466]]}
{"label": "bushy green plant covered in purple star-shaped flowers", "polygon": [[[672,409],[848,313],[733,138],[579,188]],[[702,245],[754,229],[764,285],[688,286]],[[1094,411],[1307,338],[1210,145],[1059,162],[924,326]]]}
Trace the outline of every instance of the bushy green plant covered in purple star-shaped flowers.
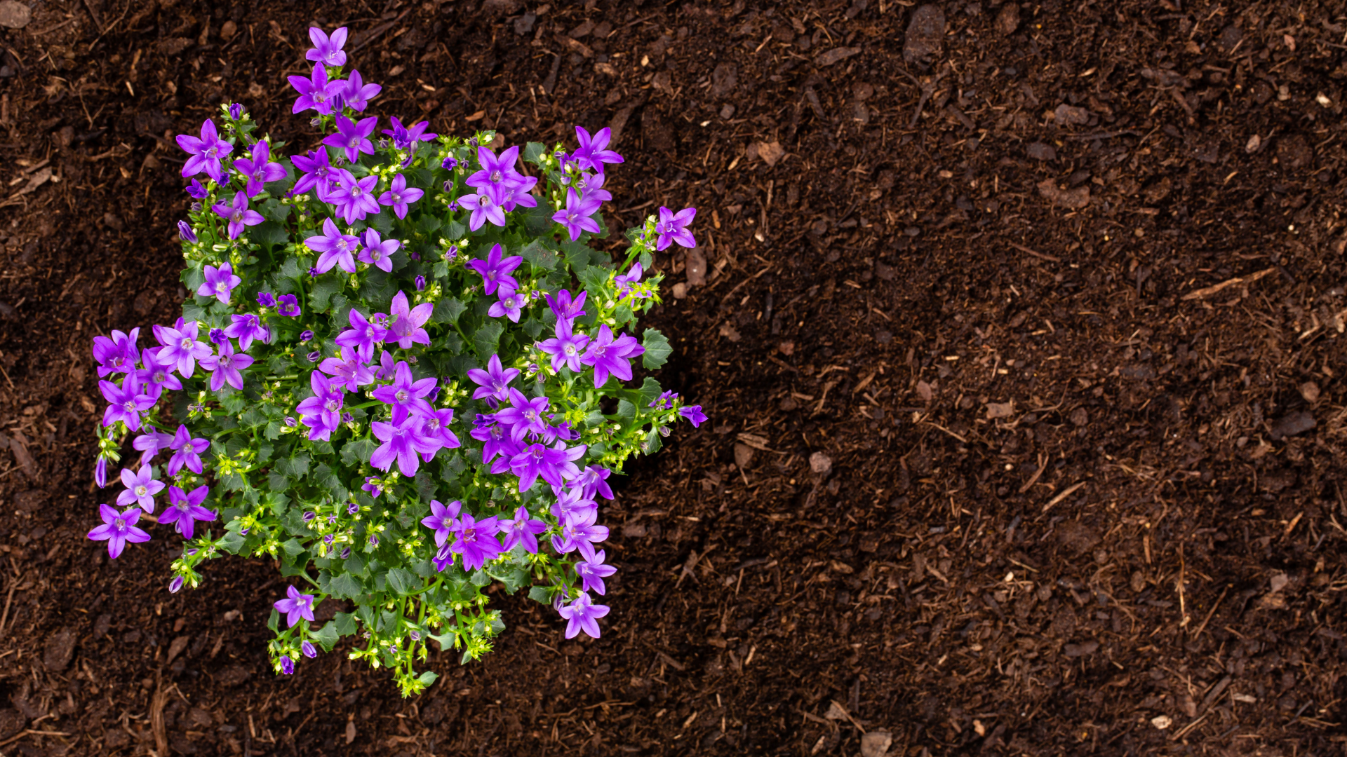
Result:
{"label": "bushy green plant covered in purple star-shaped flowers", "polygon": [[[609,477],[706,419],[632,372],[669,354],[632,330],[659,302],[643,269],[695,244],[695,210],[661,207],[613,265],[587,244],[607,237],[603,168],[622,162],[607,129],[500,154],[490,132],[380,131],[362,114],[380,86],[339,78],[346,30],[310,38],[313,74],[291,84],[326,133],[314,150],[282,158],[240,105],[178,137],[194,296],[155,346],[139,329],[94,338],[97,484],[128,438],[140,457],[89,537],[116,558],[171,524],[186,543],[170,591],[225,554],[273,558],[292,578],[268,624],[275,669],[354,634],[350,656],[405,696],[435,680],[415,671],[430,640],[465,663],[490,649],[494,582],[552,605],[567,638],[599,634]],[[315,622],[329,598],[353,612]]]}

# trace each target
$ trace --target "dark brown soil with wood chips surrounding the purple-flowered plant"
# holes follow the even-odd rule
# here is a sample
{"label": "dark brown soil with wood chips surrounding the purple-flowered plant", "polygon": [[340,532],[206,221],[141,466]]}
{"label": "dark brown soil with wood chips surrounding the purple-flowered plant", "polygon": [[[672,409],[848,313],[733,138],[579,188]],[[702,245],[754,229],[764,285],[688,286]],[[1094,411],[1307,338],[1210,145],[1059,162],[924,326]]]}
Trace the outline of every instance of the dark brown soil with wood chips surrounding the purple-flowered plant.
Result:
{"label": "dark brown soil with wood chips surrounding the purple-flowered plant", "polygon": [[[32,5],[0,31],[5,753],[1343,753],[1340,4]],[[655,322],[713,420],[606,513],[605,637],[502,598],[418,700],[339,651],[265,672],[269,564],[171,595],[172,539],[84,540],[89,341],[179,302],[172,136],[241,100],[311,141],[314,20],[384,116],[612,125],[624,225],[700,209]]]}

